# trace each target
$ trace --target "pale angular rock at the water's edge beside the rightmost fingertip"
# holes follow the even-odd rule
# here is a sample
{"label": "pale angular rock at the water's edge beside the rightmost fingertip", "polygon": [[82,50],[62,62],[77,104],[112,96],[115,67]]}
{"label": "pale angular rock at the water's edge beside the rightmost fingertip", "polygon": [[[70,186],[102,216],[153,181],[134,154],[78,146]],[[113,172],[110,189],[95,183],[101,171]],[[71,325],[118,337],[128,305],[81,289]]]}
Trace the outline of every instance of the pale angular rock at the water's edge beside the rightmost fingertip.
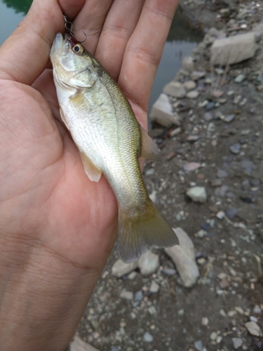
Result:
{"label": "pale angular rock at the water's edge beside the rightmost fingertip", "polygon": [[166,128],[170,128],[173,124],[180,126],[180,119],[173,114],[173,107],[166,94],[161,94],[154,102],[149,117],[151,121],[155,121]]}

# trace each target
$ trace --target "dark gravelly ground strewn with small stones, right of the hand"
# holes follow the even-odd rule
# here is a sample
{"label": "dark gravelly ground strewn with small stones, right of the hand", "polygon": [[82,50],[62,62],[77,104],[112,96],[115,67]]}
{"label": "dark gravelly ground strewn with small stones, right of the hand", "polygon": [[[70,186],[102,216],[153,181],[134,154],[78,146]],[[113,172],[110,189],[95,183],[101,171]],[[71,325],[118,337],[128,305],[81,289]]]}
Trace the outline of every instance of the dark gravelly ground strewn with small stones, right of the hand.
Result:
{"label": "dark gravelly ground strewn with small stones, right of the hand", "polygon": [[[263,1],[181,5],[206,35],[164,89],[174,124],[153,124],[163,162],[147,161],[143,174],[168,223],[194,244],[192,280],[163,249],[127,270],[114,250],[78,333],[105,351],[262,351]],[[210,65],[216,39],[251,30],[253,58]]]}

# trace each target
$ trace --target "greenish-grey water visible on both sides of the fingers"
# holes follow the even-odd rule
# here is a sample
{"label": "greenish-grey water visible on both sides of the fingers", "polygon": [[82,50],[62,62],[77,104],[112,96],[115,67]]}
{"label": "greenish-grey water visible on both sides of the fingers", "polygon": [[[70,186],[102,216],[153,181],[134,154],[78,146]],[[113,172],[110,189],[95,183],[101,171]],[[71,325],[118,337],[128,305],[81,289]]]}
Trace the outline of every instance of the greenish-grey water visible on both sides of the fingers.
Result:
{"label": "greenish-grey water visible on both sides of the fingers", "polygon": [[[0,45],[18,26],[31,2],[31,0],[0,0]],[[183,58],[191,53],[201,39],[201,33],[191,30],[180,11],[177,11],[154,79],[149,111],[161,94],[163,86],[171,81],[176,72],[182,67]]]}

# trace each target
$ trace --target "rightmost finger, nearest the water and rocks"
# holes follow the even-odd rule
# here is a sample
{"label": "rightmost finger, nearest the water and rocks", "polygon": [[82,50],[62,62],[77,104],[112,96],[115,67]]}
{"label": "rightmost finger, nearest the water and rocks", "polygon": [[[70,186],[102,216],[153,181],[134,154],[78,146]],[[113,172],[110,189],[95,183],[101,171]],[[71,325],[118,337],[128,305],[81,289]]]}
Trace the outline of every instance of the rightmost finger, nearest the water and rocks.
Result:
{"label": "rightmost finger, nearest the water and rocks", "polygon": [[126,46],[119,86],[147,111],[149,95],[179,0],[147,0]]}

